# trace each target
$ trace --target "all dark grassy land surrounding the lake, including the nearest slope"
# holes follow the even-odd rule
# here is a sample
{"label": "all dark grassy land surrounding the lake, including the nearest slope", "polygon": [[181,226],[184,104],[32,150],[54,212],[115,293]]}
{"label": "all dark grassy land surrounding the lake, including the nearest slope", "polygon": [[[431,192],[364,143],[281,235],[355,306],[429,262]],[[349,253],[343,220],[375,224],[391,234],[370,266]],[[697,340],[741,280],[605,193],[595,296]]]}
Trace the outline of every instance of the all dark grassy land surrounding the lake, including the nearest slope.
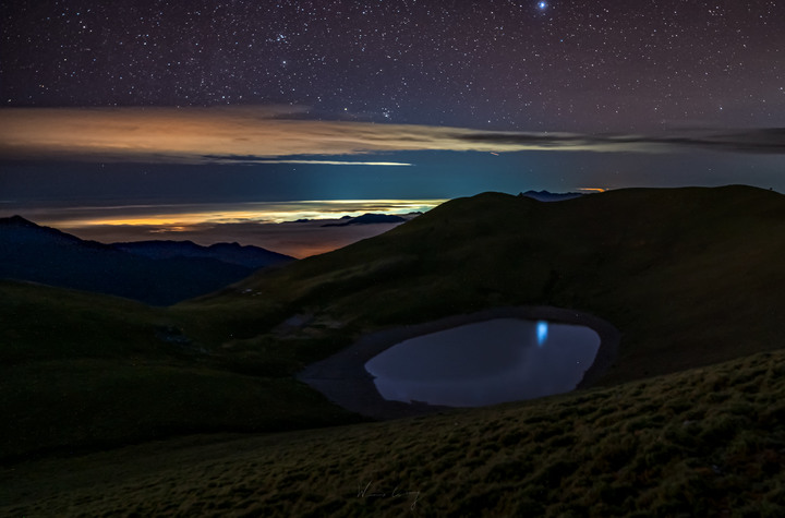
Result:
{"label": "all dark grassy land surrounding the lake, including the nearest slope", "polygon": [[[439,515],[774,513],[783,234],[785,198],[747,186],[485,193],[167,308],[2,281],[0,513],[413,504],[369,482]],[[295,378],[372,333],[539,305],[618,329],[591,386],[372,423]]]}

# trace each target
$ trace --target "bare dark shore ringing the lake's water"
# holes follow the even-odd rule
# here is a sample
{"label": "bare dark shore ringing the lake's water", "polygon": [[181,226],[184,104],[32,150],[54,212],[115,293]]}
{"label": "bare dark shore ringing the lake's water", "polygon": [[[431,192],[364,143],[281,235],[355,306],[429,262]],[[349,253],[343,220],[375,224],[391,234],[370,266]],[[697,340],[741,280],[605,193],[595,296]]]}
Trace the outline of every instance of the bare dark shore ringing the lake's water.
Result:
{"label": "bare dark shore ringing the lake's water", "polygon": [[600,336],[600,349],[577,389],[592,386],[607,371],[618,353],[620,333],[608,322],[594,315],[553,306],[491,308],[365,335],[342,351],[306,366],[297,378],[324,394],[336,405],[374,419],[398,419],[452,410],[457,407],[384,399],[376,390],[374,377],[365,371],[365,363],[403,340],[495,318],[543,320],[593,329]]}

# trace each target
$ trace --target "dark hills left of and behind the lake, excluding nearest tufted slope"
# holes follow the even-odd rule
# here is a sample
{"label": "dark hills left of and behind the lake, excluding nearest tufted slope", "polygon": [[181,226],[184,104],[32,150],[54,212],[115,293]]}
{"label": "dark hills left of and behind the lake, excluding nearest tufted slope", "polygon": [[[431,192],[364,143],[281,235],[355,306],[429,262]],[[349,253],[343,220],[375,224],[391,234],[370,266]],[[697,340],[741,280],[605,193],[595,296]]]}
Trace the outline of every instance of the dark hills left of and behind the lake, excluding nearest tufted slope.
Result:
{"label": "dark hills left of and behind the lake, excluding nearest tufted slope", "polygon": [[[605,384],[775,349],[783,234],[785,197],[751,188],[483,194],[168,310],[0,284],[0,457],[350,422],[290,374],[361,332],[493,305],[612,322],[623,342]],[[298,313],[314,320],[269,333]],[[162,341],[166,326],[206,353]]]}

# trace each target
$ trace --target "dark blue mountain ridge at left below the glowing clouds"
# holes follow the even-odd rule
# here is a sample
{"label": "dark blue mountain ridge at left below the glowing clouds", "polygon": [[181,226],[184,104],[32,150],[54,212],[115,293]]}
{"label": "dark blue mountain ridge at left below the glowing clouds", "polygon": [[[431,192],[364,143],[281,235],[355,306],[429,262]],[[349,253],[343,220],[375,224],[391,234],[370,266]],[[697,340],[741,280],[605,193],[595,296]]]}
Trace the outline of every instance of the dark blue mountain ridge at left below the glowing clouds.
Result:
{"label": "dark blue mountain ridge at left below the glowing clouds", "polygon": [[0,278],[113,294],[169,305],[205,294],[253,272],[294,261],[258,246],[191,241],[104,244],[0,218]]}

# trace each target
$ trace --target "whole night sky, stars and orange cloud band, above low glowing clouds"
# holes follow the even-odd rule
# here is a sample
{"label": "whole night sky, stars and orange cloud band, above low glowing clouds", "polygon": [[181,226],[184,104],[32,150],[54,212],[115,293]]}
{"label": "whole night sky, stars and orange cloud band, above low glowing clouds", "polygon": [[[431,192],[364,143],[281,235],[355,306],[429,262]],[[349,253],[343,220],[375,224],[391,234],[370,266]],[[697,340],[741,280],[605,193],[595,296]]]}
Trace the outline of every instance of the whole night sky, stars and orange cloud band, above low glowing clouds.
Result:
{"label": "whole night sky, stars and orange cloud band, above low glowing clouds", "polygon": [[0,215],[785,192],[785,1],[16,0],[0,27]]}

